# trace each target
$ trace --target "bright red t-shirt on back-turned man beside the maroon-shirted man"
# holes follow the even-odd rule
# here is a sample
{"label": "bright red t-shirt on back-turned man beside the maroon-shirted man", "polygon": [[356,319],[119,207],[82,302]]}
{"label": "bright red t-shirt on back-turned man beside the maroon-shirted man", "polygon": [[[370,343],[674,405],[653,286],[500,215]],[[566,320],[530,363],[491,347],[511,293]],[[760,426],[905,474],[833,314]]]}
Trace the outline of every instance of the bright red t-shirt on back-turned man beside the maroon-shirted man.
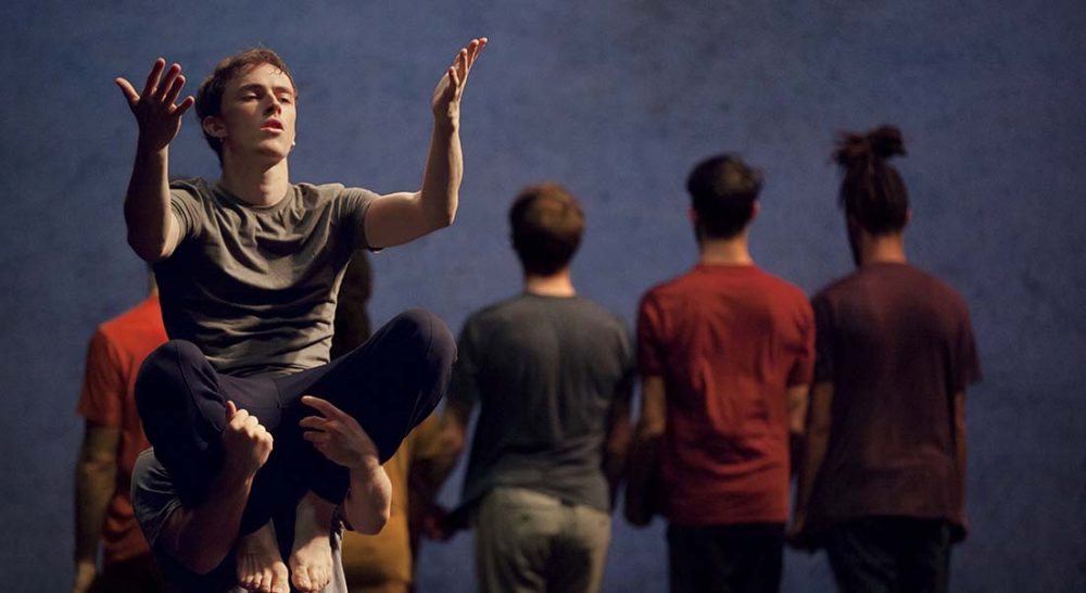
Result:
{"label": "bright red t-shirt on back-turned man beside the maroon-shirted man", "polygon": [[803,291],[754,265],[698,265],[645,294],[637,351],[665,381],[668,520],[787,519],[787,388],[815,359]]}

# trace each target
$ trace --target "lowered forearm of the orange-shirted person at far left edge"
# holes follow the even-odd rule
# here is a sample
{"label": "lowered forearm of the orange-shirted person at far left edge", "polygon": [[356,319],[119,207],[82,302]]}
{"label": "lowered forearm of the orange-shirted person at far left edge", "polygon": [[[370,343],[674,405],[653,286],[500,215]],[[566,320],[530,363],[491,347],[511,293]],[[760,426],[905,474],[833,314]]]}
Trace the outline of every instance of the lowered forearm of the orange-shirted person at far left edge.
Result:
{"label": "lowered forearm of the orange-shirted person at far left edge", "polygon": [[75,476],[75,562],[94,564],[105,508],[116,480],[116,464],[80,455]]}

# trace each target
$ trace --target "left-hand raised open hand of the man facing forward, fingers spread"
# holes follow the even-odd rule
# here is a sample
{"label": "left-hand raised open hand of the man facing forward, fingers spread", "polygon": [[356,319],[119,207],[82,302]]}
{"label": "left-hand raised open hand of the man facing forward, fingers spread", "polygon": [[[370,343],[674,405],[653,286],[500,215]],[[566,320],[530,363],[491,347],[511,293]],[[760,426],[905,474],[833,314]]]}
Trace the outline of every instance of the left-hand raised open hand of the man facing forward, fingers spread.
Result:
{"label": "left-hand raised open hand of the man facing forward, fingers spread", "polygon": [[125,78],[118,77],[114,81],[121,87],[139,124],[140,148],[157,152],[169,146],[181,129],[181,115],[195,103],[195,99],[189,96],[180,104],[174,104],[185,86],[181,66],[174,64],[166,70],[165,60],[155,60],[143,92],[136,92],[136,87]]}

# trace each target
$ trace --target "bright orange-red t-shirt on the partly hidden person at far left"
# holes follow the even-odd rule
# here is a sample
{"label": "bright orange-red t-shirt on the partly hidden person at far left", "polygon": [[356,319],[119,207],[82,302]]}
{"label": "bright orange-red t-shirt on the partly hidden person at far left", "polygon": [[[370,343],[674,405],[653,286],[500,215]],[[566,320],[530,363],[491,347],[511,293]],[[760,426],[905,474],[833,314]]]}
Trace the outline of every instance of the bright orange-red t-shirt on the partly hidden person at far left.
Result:
{"label": "bright orange-red t-shirt on the partly hidden person at far left", "polygon": [[102,527],[103,563],[109,565],[150,552],[132,515],[132,466],[151,446],[136,412],[136,375],[143,358],[166,341],[159,298],[98,327],[87,350],[87,368],[77,412],[88,422],[121,429],[117,479]]}

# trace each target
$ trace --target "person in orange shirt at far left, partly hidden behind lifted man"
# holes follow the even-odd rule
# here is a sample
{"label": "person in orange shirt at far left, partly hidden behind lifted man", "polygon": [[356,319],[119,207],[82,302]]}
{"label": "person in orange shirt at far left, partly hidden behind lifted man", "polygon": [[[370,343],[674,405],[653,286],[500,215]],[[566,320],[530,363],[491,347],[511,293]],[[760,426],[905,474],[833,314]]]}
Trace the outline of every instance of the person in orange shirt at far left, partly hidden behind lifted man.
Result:
{"label": "person in orange shirt at far left, partly hidden behind lifted man", "polygon": [[136,413],[136,374],[165,341],[153,283],[147,300],[98,326],[90,339],[77,407],[86,429],[76,464],[73,593],[162,591],[151,550],[132,516],[129,487],[136,455],[150,446]]}

